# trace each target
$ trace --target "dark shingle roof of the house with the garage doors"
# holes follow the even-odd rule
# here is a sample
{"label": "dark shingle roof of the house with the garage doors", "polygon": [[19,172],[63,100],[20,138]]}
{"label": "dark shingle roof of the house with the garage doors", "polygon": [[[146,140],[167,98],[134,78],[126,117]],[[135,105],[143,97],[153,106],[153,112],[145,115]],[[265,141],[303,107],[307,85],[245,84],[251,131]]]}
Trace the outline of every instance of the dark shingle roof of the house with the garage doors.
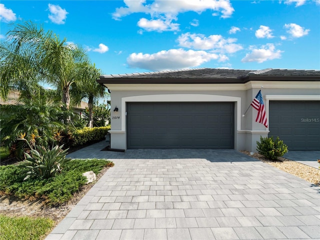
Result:
{"label": "dark shingle roof of the house with the garage doors", "polygon": [[244,83],[251,80],[320,81],[320,70],[273,69],[239,70],[193,68],[175,71],[101,75],[97,82],[106,83]]}

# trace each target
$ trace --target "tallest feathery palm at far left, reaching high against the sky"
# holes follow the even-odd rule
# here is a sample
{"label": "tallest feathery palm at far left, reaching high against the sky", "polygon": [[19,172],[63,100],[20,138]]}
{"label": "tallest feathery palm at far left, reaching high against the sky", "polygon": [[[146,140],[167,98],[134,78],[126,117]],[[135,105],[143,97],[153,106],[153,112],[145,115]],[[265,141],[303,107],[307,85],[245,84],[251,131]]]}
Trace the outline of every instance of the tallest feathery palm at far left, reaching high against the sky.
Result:
{"label": "tallest feathery palm at far left, reaching high against the sky", "polygon": [[70,86],[79,79],[76,64],[87,60],[85,51],[31,21],[16,24],[6,36],[8,40],[0,46],[1,95],[6,98],[17,82],[42,80],[61,92],[61,100],[69,108]]}

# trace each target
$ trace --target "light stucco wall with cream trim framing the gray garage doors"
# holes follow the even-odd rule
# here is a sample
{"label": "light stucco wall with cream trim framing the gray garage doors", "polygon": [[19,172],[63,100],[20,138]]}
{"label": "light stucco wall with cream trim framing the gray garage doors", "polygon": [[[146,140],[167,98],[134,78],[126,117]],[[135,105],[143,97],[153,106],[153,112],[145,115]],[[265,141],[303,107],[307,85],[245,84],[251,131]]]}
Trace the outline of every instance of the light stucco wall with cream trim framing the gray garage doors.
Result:
{"label": "light stucco wall with cream trim framing the gray garage doors", "polygon": [[[258,90],[268,118],[268,101],[320,100],[318,82],[263,82],[244,84],[107,84],[111,91],[111,148],[126,149],[126,102],[234,102],[234,148],[256,151],[256,141],[268,129],[255,122],[257,111],[250,106]],[[114,112],[114,107],[118,108]],[[250,107],[249,107],[250,106]],[[248,108],[249,107],[249,108]],[[245,116],[243,113],[248,108]]]}

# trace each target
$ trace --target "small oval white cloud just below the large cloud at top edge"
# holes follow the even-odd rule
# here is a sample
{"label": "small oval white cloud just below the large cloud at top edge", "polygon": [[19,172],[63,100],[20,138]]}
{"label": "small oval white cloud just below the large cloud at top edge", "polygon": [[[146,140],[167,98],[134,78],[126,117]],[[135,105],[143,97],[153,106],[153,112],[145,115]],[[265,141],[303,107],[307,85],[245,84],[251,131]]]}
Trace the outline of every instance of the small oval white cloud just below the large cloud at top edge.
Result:
{"label": "small oval white cloud just below the large cloud at top edge", "polygon": [[179,24],[172,23],[170,20],[148,20],[141,18],[137,25],[147,31],[175,31],[179,29]]}

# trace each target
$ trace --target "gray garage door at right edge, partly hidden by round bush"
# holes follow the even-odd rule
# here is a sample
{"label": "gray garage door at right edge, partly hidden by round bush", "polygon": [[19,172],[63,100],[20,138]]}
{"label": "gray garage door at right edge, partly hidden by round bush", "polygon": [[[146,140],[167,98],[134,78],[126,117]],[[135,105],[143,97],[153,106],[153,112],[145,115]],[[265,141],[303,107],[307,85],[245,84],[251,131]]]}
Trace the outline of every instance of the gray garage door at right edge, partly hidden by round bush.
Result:
{"label": "gray garage door at right edge, partly hidden by round bush", "polygon": [[320,150],[320,101],[270,101],[269,136],[291,151]]}

